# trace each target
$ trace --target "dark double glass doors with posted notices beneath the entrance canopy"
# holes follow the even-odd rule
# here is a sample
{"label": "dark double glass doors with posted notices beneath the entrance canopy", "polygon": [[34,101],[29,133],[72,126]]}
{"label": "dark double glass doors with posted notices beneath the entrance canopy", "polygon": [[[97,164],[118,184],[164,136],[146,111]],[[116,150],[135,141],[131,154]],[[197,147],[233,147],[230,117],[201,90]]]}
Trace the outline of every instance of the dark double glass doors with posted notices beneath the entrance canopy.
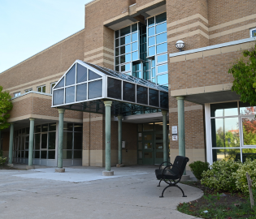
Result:
{"label": "dark double glass doors with posted notices beneath the entrance canopy", "polygon": [[142,133],[142,160],[144,165],[158,165],[163,162],[163,132]]}

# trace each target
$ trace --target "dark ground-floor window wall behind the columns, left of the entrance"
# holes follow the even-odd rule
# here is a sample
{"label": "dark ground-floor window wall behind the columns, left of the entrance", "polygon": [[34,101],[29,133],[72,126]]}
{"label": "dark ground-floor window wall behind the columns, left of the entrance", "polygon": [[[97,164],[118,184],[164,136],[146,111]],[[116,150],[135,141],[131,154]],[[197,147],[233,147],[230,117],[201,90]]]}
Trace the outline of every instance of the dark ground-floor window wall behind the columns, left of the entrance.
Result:
{"label": "dark ground-floor window wall behind the columns, left of the entrance", "polygon": [[[64,123],[63,160],[67,165],[79,165],[82,158],[82,131],[80,123]],[[16,163],[28,164],[29,127],[15,131],[14,158]],[[58,152],[57,123],[34,127],[33,163],[56,165]],[[63,161],[65,163],[65,161]]]}

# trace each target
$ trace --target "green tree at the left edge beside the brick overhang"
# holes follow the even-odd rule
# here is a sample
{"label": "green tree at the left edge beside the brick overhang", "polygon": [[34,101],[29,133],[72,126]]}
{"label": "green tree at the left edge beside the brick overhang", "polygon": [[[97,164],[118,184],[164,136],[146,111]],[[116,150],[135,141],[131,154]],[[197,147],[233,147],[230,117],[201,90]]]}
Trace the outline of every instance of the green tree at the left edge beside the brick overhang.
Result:
{"label": "green tree at the left edge beside the brick overhang", "polygon": [[9,92],[2,92],[2,86],[0,86],[0,131],[10,126],[7,122],[10,114],[7,114],[7,112],[11,109],[11,96]]}

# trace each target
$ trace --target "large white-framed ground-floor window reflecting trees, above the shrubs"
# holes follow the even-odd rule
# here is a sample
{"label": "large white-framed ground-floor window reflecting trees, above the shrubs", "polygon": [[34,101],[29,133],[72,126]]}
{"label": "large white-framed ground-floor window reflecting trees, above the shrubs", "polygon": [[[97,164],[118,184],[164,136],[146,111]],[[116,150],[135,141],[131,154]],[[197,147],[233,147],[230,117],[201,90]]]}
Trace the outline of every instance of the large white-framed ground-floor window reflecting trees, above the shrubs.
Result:
{"label": "large white-framed ground-floor window reflecting trees, above the shrubs", "polygon": [[210,104],[211,161],[256,158],[255,113],[239,101]]}

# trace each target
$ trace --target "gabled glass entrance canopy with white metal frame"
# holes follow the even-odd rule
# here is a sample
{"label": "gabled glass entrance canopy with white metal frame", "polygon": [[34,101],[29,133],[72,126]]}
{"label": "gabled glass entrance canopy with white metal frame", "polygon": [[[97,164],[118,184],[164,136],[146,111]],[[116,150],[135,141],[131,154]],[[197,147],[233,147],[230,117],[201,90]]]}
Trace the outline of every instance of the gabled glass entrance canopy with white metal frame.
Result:
{"label": "gabled glass entrance canopy with white metal frame", "polygon": [[111,114],[168,110],[168,88],[80,60],[53,88],[52,107],[103,114],[103,101],[113,101]]}

